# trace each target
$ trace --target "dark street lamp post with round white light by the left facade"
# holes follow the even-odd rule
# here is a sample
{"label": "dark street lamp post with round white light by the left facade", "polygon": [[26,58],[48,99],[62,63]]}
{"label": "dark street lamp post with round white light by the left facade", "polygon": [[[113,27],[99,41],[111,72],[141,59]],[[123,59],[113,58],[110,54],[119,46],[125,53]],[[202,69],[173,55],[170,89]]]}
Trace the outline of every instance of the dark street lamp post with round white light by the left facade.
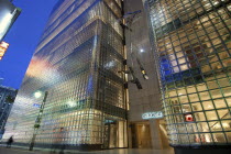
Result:
{"label": "dark street lamp post with round white light by the left facade", "polygon": [[[34,94],[34,97],[40,98],[40,97],[42,97],[42,95],[43,95],[42,91],[36,91]],[[35,142],[35,139],[36,139],[36,135],[37,135],[37,131],[40,129],[40,123],[42,121],[43,110],[44,110],[44,107],[45,107],[45,103],[46,103],[47,95],[48,95],[48,91],[45,91],[43,102],[40,106],[40,112],[37,114],[37,118],[36,118],[35,124],[34,124],[34,133],[33,133],[32,141],[31,141],[30,148],[29,148],[30,151],[33,151],[33,147],[34,147],[34,142]]]}

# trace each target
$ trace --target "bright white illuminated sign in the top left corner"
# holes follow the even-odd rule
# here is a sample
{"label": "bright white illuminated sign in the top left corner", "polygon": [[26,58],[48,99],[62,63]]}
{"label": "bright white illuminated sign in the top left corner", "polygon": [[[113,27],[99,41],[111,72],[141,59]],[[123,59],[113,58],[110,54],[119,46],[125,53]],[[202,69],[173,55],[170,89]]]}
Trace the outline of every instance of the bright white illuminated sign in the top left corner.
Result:
{"label": "bright white illuminated sign in the top left corner", "polygon": [[21,10],[9,0],[0,0],[0,42],[14,23]]}

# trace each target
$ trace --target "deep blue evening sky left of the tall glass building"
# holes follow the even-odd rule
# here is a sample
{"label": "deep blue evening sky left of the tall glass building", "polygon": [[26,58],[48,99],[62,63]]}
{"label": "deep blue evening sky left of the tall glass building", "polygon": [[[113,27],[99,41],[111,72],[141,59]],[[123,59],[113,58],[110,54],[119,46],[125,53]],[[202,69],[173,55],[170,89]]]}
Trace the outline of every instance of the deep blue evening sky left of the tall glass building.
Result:
{"label": "deep blue evening sky left of the tall glass building", "polygon": [[56,1],[14,0],[13,3],[22,9],[22,13],[3,40],[10,44],[3,59],[0,61],[0,78],[4,78],[3,86],[20,88]]}

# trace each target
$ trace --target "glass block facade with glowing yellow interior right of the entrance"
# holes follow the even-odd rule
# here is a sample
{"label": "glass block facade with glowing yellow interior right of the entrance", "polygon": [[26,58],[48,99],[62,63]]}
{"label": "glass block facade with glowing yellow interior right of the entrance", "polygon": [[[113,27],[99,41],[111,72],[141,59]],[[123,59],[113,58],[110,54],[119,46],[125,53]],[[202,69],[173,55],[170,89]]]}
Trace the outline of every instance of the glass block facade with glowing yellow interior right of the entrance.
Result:
{"label": "glass block facade with glowing yellow interior right of the entrance", "polygon": [[230,145],[230,1],[144,3],[170,145]]}

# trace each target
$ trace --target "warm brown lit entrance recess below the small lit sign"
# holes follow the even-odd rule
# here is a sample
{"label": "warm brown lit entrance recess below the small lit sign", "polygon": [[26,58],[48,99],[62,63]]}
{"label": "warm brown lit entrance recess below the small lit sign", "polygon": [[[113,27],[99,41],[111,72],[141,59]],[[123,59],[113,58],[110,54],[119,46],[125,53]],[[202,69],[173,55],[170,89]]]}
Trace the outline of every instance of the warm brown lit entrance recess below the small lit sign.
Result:
{"label": "warm brown lit entrance recess below the small lit sign", "polygon": [[129,122],[129,147],[169,150],[164,119]]}

